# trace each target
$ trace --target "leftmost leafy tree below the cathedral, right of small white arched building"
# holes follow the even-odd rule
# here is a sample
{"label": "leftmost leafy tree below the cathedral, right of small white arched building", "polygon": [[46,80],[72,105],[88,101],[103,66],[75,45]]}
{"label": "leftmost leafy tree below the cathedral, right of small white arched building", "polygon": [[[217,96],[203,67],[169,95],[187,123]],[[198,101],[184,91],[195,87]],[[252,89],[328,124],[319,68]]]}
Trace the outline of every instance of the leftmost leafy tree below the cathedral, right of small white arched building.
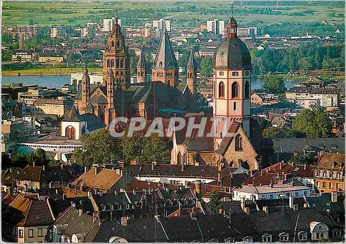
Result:
{"label": "leftmost leafy tree below the cathedral, right of small white arched building", "polygon": [[101,129],[92,134],[84,134],[80,141],[82,148],[73,152],[73,159],[81,166],[116,163],[121,157],[120,140],[112,137],[108,130]]}

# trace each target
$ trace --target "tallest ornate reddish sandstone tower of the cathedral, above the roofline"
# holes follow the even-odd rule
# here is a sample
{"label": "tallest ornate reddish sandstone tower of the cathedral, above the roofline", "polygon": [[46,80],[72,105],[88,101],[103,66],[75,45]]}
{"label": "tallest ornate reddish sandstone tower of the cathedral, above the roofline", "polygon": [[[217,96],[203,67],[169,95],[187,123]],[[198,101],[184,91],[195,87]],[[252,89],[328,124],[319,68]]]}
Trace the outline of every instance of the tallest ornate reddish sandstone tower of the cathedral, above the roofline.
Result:
{"label": "tallest ornate reddish sandstone tower of the cathedral, above the roofline", "polygon": [[107,79],[109,69],[113,71],[116,85],[122,87],[122,90],[125,91],[130,85],[129,55],[117,17],[107,42],[106,51],[103,53],[104,82]]}

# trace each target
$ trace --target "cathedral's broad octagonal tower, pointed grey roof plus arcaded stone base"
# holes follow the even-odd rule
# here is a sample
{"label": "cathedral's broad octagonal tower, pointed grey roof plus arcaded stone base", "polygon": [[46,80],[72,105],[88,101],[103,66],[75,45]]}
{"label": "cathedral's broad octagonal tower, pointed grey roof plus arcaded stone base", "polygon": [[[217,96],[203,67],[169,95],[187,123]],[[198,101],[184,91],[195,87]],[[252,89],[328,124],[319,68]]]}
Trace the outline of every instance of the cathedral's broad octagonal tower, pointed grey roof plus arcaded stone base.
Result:
{"label": "cathedral's broad octagonal tower, pointed grey roof plus arcaded stone base", "polygon": [[178,63],[173,53],[170,37],[167,30],[163,32],[156,52],[154,67],[152,68],[152,81],[161,81],[171,87],[178,85]]}

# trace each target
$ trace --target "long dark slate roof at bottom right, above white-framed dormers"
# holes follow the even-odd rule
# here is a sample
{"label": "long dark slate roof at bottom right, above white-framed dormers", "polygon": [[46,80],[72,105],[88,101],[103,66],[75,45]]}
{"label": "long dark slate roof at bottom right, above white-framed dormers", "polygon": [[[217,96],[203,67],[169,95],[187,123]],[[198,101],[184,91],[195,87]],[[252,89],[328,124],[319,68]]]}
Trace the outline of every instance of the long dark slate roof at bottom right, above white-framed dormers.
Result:
{"label": "long dark slate roof at bottom right, above white-framed dormers", "polygon": [[[297,221],[299,214],[299,219]],[[301,209],[293,211],[292,209],[279,209],[270,211],[266,214],[264,211],[254,211],[250,214],[256,229],[261,234],[268,232],[296,232],[309,230],[309,224],[312,221],[325,223],[329,226],[338,226],[333,220],[329,219],[314,209]]]}

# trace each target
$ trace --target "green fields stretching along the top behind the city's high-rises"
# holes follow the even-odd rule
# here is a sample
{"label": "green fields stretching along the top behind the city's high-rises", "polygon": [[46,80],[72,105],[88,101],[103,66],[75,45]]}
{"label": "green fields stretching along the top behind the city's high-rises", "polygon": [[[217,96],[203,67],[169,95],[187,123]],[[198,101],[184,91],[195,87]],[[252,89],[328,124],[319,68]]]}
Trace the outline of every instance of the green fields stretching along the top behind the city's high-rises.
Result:
{"label": "green fields stretching along the top behind the city's high-rises", "polygon": [[[234,7],[235,17],[244,25],[253,21],[262,24],[285,21],[320,23],[324,19],[331,24],[344,23],[343,6],[336,8],[334,5],[327,6],[329,3],[323,6],[311,2],[291,6],[280,2],[277,9],[276,1],[266,3],[270,5],[251,5],[251,2],[239,5],[240,2],[237,2]],[[103,18],[113,17],[116,12],[127,26],[143,25],[145,21],[166,17],[173,21],[174,27],[182,27],[198,26],[206,19],[228,19],[231,11],[229,1],[3,1],[2,24],[75,26],[85,25],[91,21],[101,24]]]}

